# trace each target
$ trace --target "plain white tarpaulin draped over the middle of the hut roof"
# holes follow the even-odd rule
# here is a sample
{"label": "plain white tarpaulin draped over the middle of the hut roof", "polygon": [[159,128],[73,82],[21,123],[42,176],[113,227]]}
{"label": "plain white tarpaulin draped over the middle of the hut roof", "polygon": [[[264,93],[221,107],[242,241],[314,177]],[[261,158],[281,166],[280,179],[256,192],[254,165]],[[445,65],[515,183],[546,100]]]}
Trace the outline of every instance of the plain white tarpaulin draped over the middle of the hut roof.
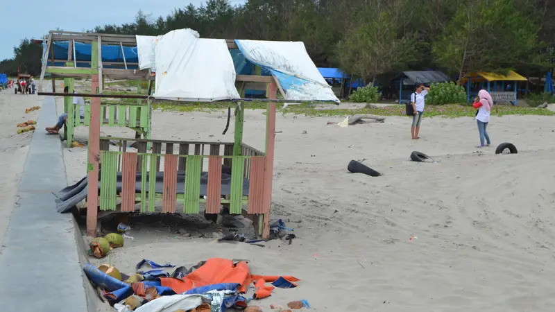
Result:
{"label": "plain white tarpaulin draped over the middle of the hut roof", "polygon": [[200,102],[241,98],[223,39],[201,39],[191,29],[171,31],[158,39],[155,65],[155,98]]}

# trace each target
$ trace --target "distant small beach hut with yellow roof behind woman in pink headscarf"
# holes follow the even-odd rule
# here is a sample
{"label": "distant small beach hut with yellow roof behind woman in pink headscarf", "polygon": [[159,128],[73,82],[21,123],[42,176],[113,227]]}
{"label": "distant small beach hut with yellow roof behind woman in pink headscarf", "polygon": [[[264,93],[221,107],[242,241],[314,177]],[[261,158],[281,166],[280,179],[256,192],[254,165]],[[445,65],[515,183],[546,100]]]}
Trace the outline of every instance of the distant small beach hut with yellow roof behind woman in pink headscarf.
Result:
{"label": "distant small beach hut with yellow roof behind woman in pink headscarf", "polygon": [[515,71],[509,71],[506,75],[479,71],[468,73],[461,79],[461,84],[466,84],[467,101],[470,102],[478,94],[480,89],[490,92],[494,103],[511,103],[516,105],[517,83],[527,81]]}

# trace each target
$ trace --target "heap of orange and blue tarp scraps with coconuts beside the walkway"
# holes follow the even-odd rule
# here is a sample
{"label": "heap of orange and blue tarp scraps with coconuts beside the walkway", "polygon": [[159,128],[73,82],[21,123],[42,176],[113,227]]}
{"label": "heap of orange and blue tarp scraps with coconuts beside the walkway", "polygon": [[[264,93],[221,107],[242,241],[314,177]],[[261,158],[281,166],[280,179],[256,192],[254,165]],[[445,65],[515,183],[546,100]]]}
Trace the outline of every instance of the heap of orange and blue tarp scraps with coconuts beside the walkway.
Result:
{"label": "heap of orange and blue tarp scraps with coconuts beside the walkway", "polygon": [[[148,259],[139,263],[148,263],[151,267],[159,266]],[[132,275],[125,282],[89,263],[85,264],[83,271],[103,291],[103,297],[108,299],[114,309],[123,312],[173,312],[192,309],[208,312],[223,311],[226,308],[260,311],[256,306],[247,307],[250,298],[244,296],[253,284],[253,297],[261,299],[271,295],[274,289],[274,286],[266,286],[266,283],[282,284],[287,281],[293,284],[299,281],[291,276],[251,275],[246,261],[219,258],[200,261],[189,270],[180,266],[171,277],[145,276],[142,279],[141,275]],[[301,300],[300,306],[308,306],[308,303],[304,304]]]}

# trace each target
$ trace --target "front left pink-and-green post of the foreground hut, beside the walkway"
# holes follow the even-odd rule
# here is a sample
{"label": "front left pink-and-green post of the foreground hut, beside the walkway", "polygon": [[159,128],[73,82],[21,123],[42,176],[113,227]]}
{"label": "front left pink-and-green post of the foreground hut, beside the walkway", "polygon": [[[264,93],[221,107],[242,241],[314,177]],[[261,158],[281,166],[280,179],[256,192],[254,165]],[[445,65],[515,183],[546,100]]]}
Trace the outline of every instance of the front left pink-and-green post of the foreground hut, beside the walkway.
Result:
{"label": "front left pink-and-green post of the foreground hut, beside the walkway", "polygon": [[[98,67],[98,44],[92,42],[91,67]],[[99,94],[99,75],[92,76],[91,93]],[[99,207],[100,155],[100,100],[91,98],[91,121],[89,124],[88,192],[87,192],[87,236],[96,236],[96,215]]]}

